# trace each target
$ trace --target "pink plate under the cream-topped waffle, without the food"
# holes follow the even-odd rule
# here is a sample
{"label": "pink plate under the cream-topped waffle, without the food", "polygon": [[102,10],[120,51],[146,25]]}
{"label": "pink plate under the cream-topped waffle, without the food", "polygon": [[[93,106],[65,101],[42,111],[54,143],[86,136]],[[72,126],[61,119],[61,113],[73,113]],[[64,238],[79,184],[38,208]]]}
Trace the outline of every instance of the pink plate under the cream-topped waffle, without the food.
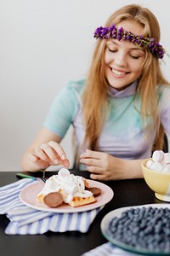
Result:
{"label": "pink plate under the cream-topped waffle, without the food", "polygon": [[104,183],[99,183],[97,181],[87,179],[89,187],[97,187],[102,190],[101,195],[96,197],[96,201],[92,204],[82,206],[82,207],[71,207],[68,204],[62,204],[59,207],[52,208],[48,207],[44,203],[37,201],[37,194],[42,190],[44,183],[35,182],[27,185],[24,189],[20,191],[20,201],[22,201],[26,206],[44,211],[44,212],[85,212],[93,210],[98,207],[105,206],[106,203],[111,201],[114,193],[113,190],[105,185]]}

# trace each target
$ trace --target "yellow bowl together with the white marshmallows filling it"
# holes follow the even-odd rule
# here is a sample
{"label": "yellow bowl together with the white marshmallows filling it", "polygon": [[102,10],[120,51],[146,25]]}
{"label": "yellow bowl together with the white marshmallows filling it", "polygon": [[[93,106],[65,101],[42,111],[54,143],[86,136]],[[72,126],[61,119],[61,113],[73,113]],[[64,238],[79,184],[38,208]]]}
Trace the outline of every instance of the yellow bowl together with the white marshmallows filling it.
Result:
{"label": "yellow bowl together with the white marshmallows filling it", "polygon": [[144,180],[156,198],[170,202],[170,153],[156,150],[152,158],[142,163]]}

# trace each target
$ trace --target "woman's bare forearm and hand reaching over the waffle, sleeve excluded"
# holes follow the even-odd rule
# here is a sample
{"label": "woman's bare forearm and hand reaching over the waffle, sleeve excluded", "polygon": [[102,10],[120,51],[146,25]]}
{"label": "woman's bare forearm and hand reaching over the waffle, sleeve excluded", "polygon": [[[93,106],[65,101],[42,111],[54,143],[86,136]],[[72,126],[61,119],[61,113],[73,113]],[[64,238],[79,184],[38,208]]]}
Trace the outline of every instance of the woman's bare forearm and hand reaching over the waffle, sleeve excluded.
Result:
{"label": "woman's bare forearm and hand reaching over the waffle, sleeve excluded", "polygon": [[46,169],[48,166],[63,165],[69,167],[69,160],[66,159],[65,151],[59,145],[60,141],[61,137],[42,127],[23,155],[21,169],[36,172]]}

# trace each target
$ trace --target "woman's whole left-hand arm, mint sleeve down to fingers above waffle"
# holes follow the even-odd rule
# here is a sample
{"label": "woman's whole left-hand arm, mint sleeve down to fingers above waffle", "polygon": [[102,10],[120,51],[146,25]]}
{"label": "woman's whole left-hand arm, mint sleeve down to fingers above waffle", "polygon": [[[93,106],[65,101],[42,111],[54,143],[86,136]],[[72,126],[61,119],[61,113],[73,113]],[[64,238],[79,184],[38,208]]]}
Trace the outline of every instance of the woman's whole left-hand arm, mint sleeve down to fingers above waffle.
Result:
{"label": "woman's whole left-hand arm, mint sleeve down to fingers above waffle", "polygon": [[[27,149],[21,160],[22,170],[33,172],[46,169],[48,166],[70,166],[65,151],[59,143],[68,131],[79,108],[79,97],[77,97],[76,89],[79,86],[82,88],[82,85],[77,85],[74,82],[73,84],[69,83],[54,98],[43,123],[48,128],[42,127]],[[56,134],[59,134],[59,136]]]}

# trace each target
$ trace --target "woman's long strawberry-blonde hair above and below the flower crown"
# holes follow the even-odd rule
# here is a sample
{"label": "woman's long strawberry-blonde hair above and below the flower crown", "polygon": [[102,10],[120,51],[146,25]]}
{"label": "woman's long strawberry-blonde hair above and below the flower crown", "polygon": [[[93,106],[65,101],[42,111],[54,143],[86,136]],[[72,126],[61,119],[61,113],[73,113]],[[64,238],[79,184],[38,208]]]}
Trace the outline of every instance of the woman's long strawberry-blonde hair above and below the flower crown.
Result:
{"label": "woman's long strawberry-blonde hair above and below the flower crown", "polygon": [[[144,37],[155,38],[160,41],[160,26],[149,9],[143,8],[137,4],[130,4],[118,9],[105,23],[105,26],[111,26],[122,22],[122,20],[135,20],[144,28]],[[108,113],[107,91],[109,84],[105,77],[105,48],[106,40],[102,39],[96,42],[91,66],[88,71],[88,78],[85,90],[82,94],[82,113],[85,122],[84,143],[92,150],[98,150],[99,135],[102,125],[105,123],[105,113]],[[143,124],[147,119],[153,119],[153,128],[156,129],[156,148],[162,147],[163,129],[160,123],[157,107],[157,84],[169,84],[161,73],[159,60],[148,50],[145,50],[145,60],[142,75],[139,79],[139,85],[135,96],[141,97],[141,108],[139,112]],[[134,104],[135,104],[134,96]]]}

